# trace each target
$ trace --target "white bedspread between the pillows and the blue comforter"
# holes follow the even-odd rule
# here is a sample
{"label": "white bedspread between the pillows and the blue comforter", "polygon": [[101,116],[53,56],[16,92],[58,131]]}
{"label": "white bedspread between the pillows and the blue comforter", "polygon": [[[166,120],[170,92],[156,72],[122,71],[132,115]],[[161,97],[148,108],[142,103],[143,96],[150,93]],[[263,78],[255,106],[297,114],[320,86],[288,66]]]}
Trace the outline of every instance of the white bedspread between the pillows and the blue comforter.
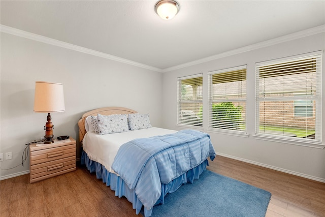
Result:
{"label": "white bedspread between the pillows and the blue comforter", "polygon": [[84,136],[82,147],[90,160],[104,165],[107,171],[115,173],[111,166],[116,153],[122,144],[133,139],[162,136],[176,132],[177,131],[174,130],[155,127],[105,135],[99,135],[91,131],[87,132]]}

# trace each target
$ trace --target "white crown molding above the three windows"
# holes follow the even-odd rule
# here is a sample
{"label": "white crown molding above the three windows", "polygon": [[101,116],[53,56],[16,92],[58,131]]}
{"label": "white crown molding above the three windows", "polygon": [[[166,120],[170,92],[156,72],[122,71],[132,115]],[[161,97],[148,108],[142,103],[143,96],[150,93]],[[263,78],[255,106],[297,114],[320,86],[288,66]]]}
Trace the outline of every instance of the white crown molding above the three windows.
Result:
{"label": "white crown molding above the three windows", "polygon": [[280,44],[280,43],[283,43],[283,42],[287,42],[287,41],[291,41],[291,40],[295,40],[295,39],[300,39],[300,38],[304,38],[304,37],[307,37],[307,36],[311,36],[311,35],[315,35],[315,34],[323,33],[323,32],[325,32],[325,25],[320,25],[320,26],[316,26],[316,27],[313,27],[313,28],[302,30],[302,31],[297,32],[297,33],[281,36],[281,37],[278,37],[278,38],[275,38],[275,39],[271,39],[271,40],[267,40],[267,41],[264,41],[264,42],[248,45],[248,46],[245,46],[245,47],[241,47],[241,48],[238,48],[238,49],[226,51],[224,53],[219,53],[219,54],[209,56],[209,57],[206,57],[206,58],[190,61],[190,62],[185,63],[185,64],[181,64],[181,65],[178,65],[178,66],[163,69],[162,71],[163,72],[169,72],[169,71],[173,71],[173,70],[177,70],[177,69],[182,69],[182,68],[185,68],[185,67],[206,63],[208,61],[212,61],[212,60],[215,60],[215,59],[219,59],[219,58],[223,58],[223,57],[227,57],[227,56],[232,56],[232,55],[236,55],[236,54],[239,54],[239,53],[243,53],[243,52],[247,52],[247,51],[251,51],[251,50],[255,50],[255,49],[259,49],[259,48],[264,48],[264,47],[268,47],[268,46],[271,46],[271,45],[276,45],[276,44]]}

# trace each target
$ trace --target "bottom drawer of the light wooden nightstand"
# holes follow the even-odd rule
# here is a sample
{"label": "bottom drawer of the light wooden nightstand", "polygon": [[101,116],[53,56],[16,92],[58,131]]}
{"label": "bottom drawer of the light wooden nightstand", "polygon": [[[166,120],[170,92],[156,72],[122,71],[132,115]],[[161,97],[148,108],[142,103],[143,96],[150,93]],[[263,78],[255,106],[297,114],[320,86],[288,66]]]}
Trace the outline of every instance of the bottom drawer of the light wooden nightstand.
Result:
{"label": "bottom drawer of the light wooden nightstand", "polygon": [[49,162],[51,164],[45,163],[41,164],[43,167],[40,167],[38,169],[32,169],[32,172],[30,172],[30,179],[46,176],[52,173],[56,173],[59,171],[64,171],[67,169],[76,169],[76,160],[73,159],[71,161],[66,162],[60,162],[58,161],[52,161]]}

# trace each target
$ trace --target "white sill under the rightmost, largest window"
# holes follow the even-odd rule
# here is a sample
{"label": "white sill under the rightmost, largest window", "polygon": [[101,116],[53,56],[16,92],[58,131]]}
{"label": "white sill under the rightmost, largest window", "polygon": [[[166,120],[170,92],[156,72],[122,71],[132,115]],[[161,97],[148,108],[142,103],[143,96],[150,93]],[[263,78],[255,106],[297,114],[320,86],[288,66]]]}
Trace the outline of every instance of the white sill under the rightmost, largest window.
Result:
{"label": "white sill under the rightmost, largest window", "polygon": [[311,148],[319,148],[319,149],[324,149],[325,145],[323,145],[320,142],[311,142],[311,141],[297,141],[294,139],[288,139],[288,138],[281,138],[281,137],[272,137],[268,135],[253,135],[254,139],[259,139],[259,140],[265,140],[265,141],[272,141],[272,142],[281,142],[285,144],[290,144],[290,145],[299,145],[299,146],[305,146],[305,147],[311,147]]}

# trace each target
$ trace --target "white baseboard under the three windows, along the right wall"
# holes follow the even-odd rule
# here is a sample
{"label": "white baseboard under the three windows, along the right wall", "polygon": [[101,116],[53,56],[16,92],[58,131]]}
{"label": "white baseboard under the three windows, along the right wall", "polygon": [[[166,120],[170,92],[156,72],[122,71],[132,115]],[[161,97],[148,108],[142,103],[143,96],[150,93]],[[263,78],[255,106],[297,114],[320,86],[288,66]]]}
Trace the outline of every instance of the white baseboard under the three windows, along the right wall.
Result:
{"label": "white baseboard under the three windows, along the right wall", "polygon": [[257,166],[261,166],[261,167],[266,167],[266,168],[269,168],[269,169],[277,170],[277,171],[288,173],[288,174],[291,174],[291,175],[297,175],[297,176],[300,176],[300,177],[304,177],[304,178],[308,178],[308,179],[311,179],[311,180],[315,180],[315,181],[325,183],[324,178],[319,178],[319,177],[315,177],[315,176],[311,176],[311,175],[307,175],[307,174],[303,174],[303,173],[299,173],[299,172],[295,172],[295,171],[291,171],[291,170],[286,170],[286,169],[283,169],[283,168],[274,167],[274,166],[271,166],[271,165],[262,164],[262,163],[259,163],[259,162],[250,161],[250,160],[243,159],[243,158],[238,158],[238,157],[231,156],[231,155],[224,154],[224,153],[216,152],[216,154],[217,154],[217,156],[219,155],[219,156],[223,156],[223,157],[226,157],[226,158],[231,158],[231,159],[246,162],[246,163],[249,163],[249,164],[254,164],[254,165],[257,165]]}

